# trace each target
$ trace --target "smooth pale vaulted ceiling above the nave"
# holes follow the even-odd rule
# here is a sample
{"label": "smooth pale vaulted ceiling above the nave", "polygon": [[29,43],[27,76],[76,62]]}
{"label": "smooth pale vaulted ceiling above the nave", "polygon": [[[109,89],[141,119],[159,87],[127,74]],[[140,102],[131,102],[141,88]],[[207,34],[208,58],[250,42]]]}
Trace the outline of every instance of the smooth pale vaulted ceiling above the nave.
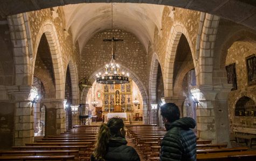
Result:
{"label": "smooth pale vaulted ceiling above the nave", "polygon": [[[113,3],[113,28],[133,33],[148,48],[154,31],[161,29],[163,5]],[[99,31],[112,28],[111,3],[72,4],[63,7],[66,30],[71,30],[73,42],[80,48]]]}

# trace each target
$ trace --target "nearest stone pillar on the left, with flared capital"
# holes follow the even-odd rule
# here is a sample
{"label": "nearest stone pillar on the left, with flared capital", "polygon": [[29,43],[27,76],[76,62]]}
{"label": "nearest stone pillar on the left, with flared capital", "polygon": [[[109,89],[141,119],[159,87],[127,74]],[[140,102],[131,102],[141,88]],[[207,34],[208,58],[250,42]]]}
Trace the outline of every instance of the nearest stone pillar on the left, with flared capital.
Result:
{"label": "nearest stone pillar on the left, with flared capital", "polygon": [[34,111],[29,98],[31,86],[6,87],[11,96],[11,102],[15,103],[15,136],[14,145],[23,146],[34,141]]}

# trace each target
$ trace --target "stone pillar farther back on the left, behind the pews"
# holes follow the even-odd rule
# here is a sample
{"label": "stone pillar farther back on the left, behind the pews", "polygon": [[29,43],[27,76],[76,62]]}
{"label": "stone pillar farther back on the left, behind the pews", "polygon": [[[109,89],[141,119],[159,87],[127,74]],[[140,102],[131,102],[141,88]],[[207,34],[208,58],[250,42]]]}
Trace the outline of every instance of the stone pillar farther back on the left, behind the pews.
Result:
{"label": "stone pillar farther back on the left, behind the pews", "polygon": [[45,105],[45,136],[64,133],[66,128],[64,99],[44,99]]}

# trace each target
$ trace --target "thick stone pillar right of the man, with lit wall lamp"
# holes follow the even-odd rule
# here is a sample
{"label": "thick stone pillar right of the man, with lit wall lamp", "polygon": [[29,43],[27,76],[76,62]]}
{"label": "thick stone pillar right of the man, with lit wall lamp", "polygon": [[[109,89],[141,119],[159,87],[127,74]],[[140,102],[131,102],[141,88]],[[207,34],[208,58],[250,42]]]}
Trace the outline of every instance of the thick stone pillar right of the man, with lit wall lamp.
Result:
{"label": "thick stone pillar right of the man, with lit wall lamp", "polygon": [[198,137],[212,140],[212,143],[227,142],[230,144],[227,113],[227,94],[230,89],[230,86],[204,85],[199,89],[191,90],[191,94],[199,101],[197,107]]}

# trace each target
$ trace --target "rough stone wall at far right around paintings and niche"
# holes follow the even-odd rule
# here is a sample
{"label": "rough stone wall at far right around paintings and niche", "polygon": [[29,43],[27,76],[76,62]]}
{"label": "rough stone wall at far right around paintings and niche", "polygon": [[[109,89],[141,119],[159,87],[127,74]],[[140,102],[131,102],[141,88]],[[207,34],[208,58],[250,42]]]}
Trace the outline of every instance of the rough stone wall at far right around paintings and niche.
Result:
{"label": "rough stone wall at far right around paintings and niche", "polygon": [[256,85],[248,85],[246,57],[256,53],[256,39],[242,39],[236,41],[227,50],[226,65],[236,63],[237,90],[229,94],[229,118],[232,127],[250,127],[256,128],[256,116],[235,116],[234,109],[237,101],[243,97],[250,97],[256,103]]}

